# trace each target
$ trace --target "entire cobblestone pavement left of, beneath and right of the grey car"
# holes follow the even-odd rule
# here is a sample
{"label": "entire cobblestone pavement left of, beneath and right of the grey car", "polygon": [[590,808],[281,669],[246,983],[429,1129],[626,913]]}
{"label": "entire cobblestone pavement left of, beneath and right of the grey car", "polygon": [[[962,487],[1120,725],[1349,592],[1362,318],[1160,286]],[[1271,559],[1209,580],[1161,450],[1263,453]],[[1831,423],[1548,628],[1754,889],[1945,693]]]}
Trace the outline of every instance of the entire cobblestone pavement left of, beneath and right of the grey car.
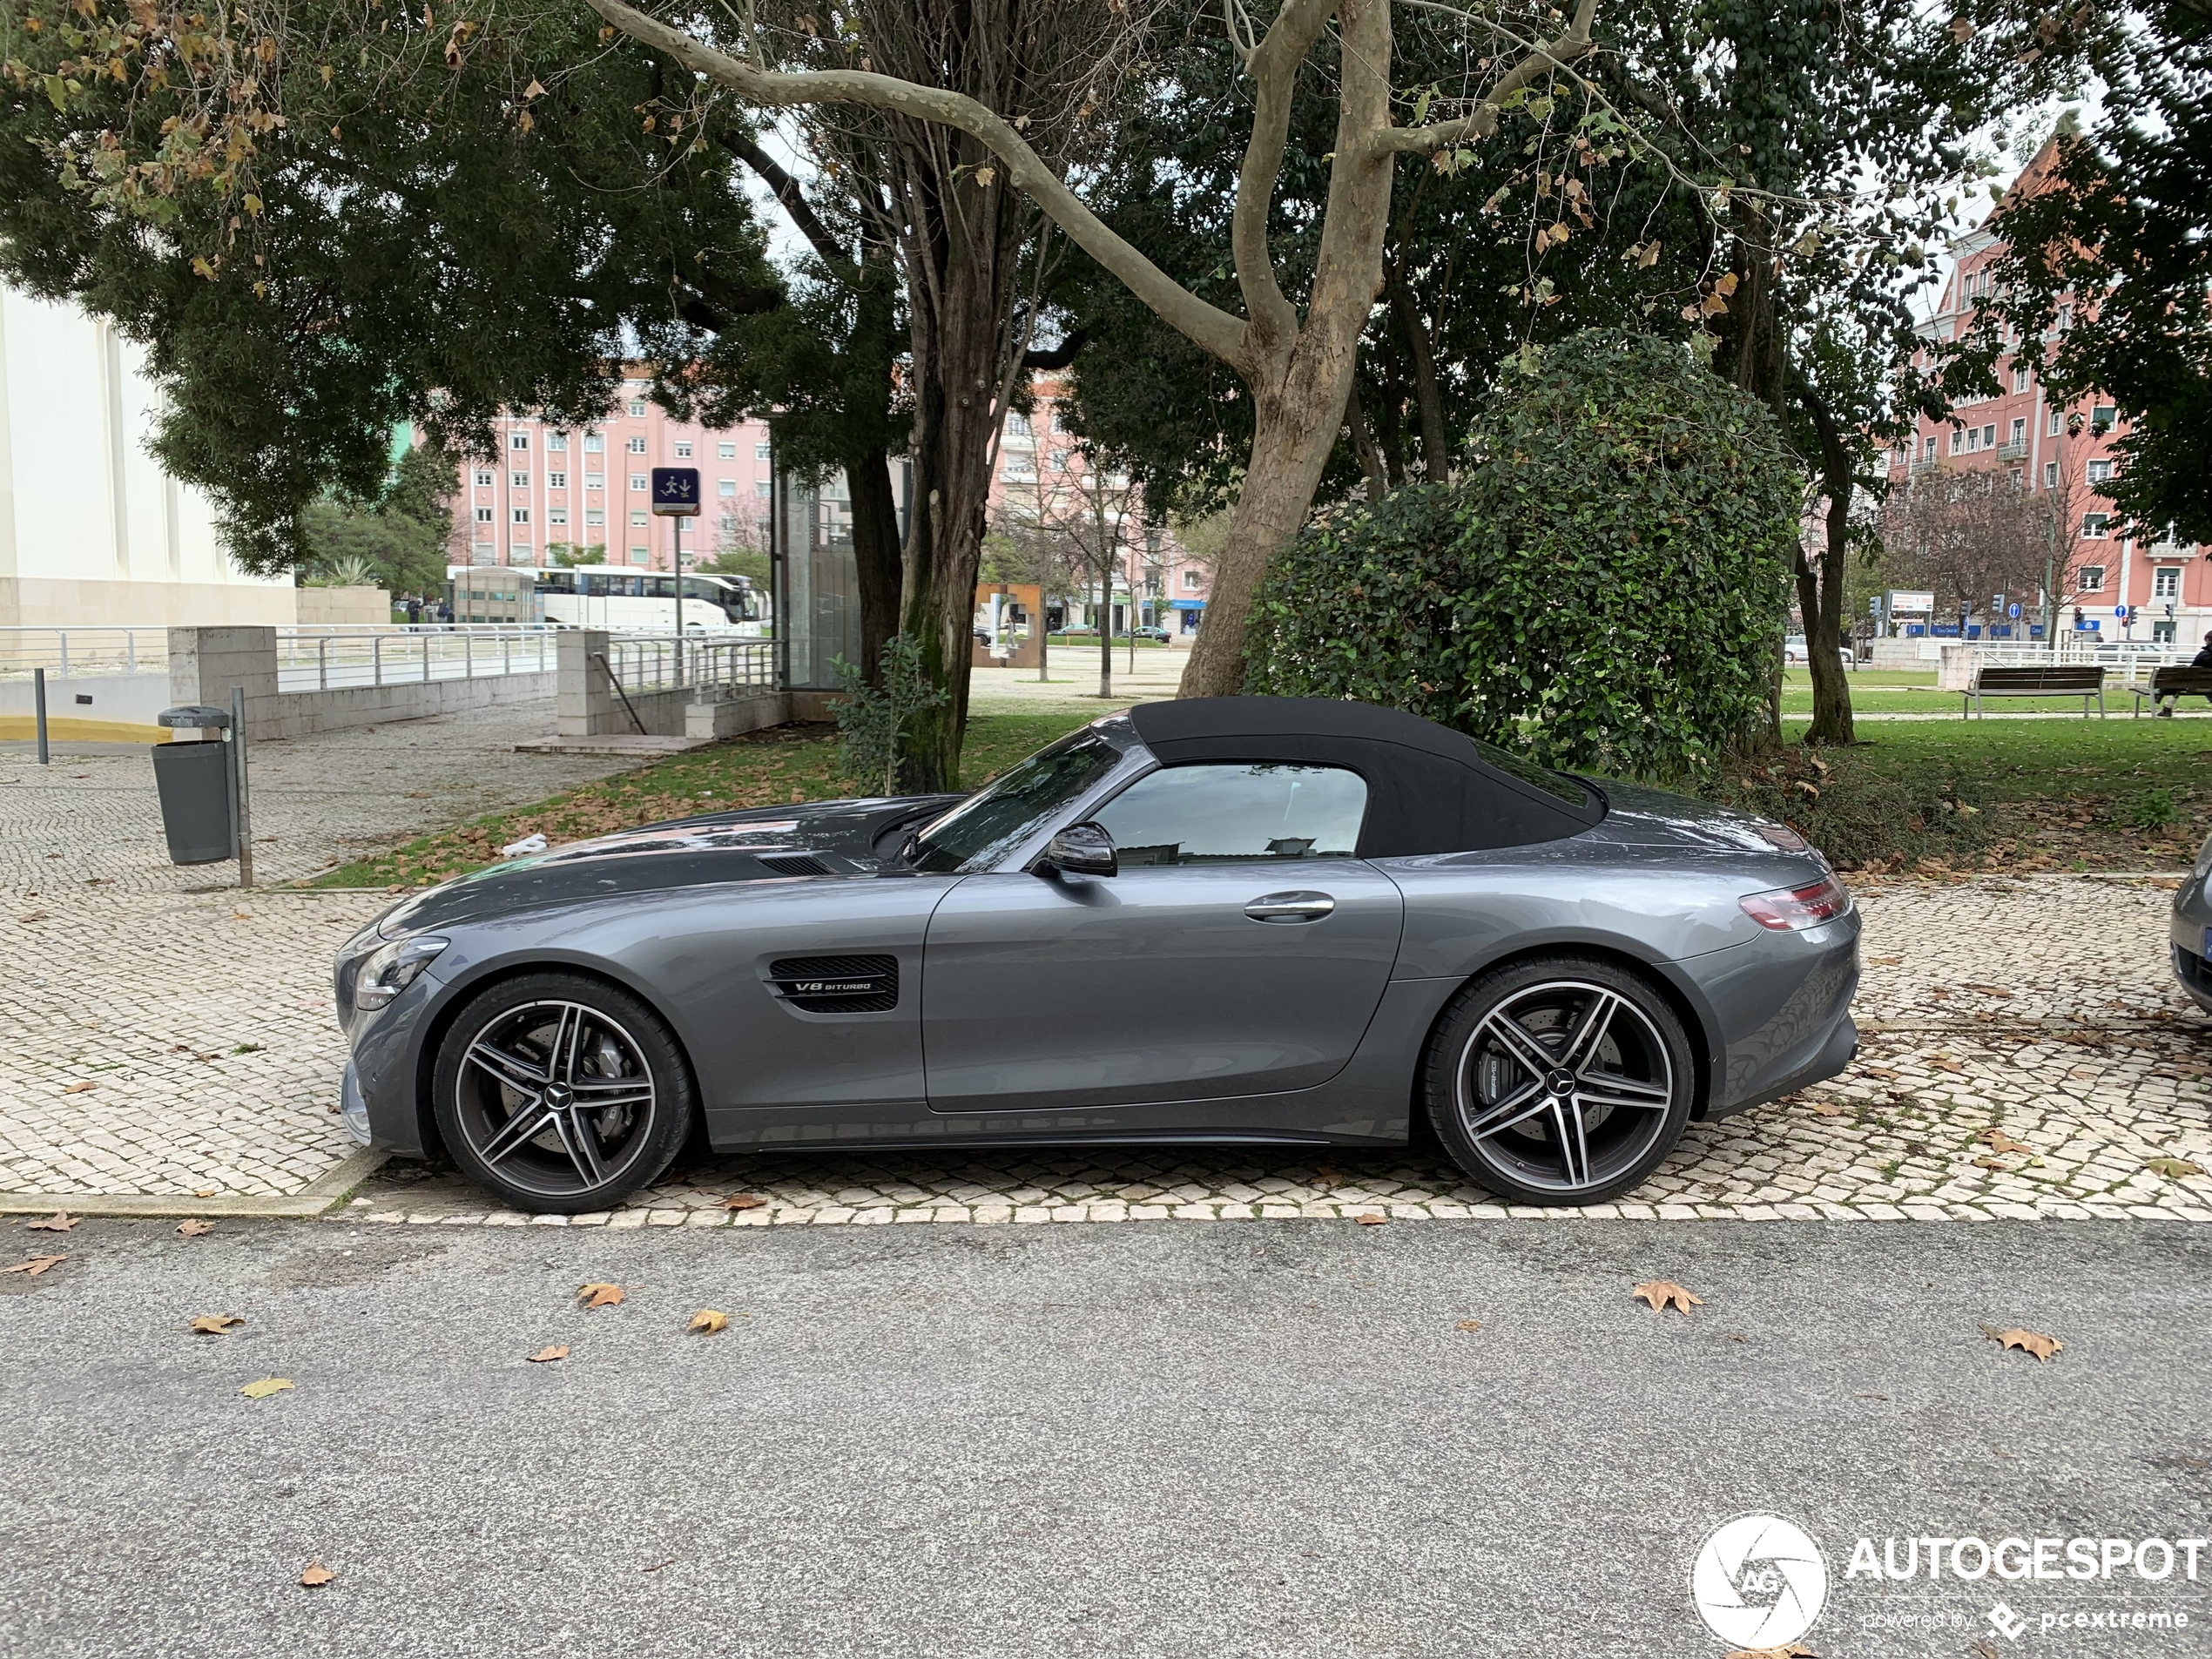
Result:
{"label": "entire cobblestone pavement left of, beneath and right of the grey car", "polygon": [[[257,750],[261,874],[526,803],[619,768],[522,757],[549,708]],[[341,1168],[325,973],[385,894],[252,891],[161,856],[144,750],[40,770],[0,750],[0,1194],[285,1197]],[[2152,883],[1858,883],[1860,1062],[1714,1126],[1630,1217],[2212,1221],[2212,1022],[2166,964]],[[2170,1166],[2179,1168],[2179,1166]],[[389,1166],[354,1214],[507,1221]],[[765,1203],[726,1210],[723,1199]],[[907,1152],[712,1159],[602,1225],[1504,1214],[1429,1159],[1334,1152]],[[1520,1212],[1515,1212],[1520,1214]],[[593,1219],[584,1219],[588,1225]]]}

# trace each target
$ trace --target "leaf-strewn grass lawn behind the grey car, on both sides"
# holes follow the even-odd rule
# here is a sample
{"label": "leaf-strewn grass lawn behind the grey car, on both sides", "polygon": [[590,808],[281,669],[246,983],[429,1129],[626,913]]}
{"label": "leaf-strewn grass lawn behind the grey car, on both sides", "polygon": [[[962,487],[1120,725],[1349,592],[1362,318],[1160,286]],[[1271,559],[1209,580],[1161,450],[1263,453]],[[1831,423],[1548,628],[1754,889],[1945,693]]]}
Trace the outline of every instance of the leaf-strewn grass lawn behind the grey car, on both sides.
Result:
{"label": "leaf-strewn grass lawn behind the grey car, on both sides", "polygon": [[[1000,708],[969,721],[962,783],[1097,719]],[[1927,721],[1865,726],[1849,750],[1785,745],[1683,787],[1781,818],[1845,869],[2174,869],[2212,832],[2212,726],[2201,721]],[[358,858],[319,887],[400,887],[476,869],[526,834],[549,841],[854,794],[827,726],[754,732],[619,772]]]}

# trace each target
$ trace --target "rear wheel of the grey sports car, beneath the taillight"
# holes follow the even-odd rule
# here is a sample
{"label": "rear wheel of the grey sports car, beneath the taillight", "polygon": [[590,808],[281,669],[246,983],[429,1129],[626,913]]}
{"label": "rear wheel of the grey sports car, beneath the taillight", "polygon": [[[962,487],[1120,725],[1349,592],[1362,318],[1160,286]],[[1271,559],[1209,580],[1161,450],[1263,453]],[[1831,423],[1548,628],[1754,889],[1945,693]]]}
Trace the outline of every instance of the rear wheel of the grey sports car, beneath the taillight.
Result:
{"label": "rear wheel of the grey sports car, beneath the taillight", "polygon": [[1697,1071],[1644,978],[1553,956],[1467,984],[1436,1022],[1420,1086],[1453,1164],[1500,1199],[1604,1203],[1674,1150]]}

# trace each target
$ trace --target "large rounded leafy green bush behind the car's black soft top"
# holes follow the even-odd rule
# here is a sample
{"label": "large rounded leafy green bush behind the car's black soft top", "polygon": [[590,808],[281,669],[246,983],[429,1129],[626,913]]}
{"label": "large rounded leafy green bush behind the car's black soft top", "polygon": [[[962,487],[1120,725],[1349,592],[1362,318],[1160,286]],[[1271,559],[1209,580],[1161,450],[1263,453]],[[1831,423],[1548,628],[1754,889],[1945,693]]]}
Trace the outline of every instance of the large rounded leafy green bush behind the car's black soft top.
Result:
{"label": "large rounded leafy green bush behind the car's black soft top", "polygon": [[1710,768],[1759,730],[1798,515],[1761,405],[1681,345],[1590,330],[1500,374],[1471,460],[1296,540],[1259,597],[1250,690],[1628,776]]}

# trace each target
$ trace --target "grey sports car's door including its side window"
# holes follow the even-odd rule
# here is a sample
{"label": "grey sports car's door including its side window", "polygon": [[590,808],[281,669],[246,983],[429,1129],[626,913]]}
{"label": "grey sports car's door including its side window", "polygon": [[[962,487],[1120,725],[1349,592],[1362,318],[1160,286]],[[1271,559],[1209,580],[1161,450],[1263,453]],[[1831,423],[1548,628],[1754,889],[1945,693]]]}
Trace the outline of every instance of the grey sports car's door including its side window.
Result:
{"label": "grey sports car's door including its side window", "polygon": [[1148,772],[1093,812],[1113,876],[967,876],[931,914],[936,1113],[1312,1088],[1352,1060],[1402,898],[1358,845],[1367,785],[1325,765]]}

